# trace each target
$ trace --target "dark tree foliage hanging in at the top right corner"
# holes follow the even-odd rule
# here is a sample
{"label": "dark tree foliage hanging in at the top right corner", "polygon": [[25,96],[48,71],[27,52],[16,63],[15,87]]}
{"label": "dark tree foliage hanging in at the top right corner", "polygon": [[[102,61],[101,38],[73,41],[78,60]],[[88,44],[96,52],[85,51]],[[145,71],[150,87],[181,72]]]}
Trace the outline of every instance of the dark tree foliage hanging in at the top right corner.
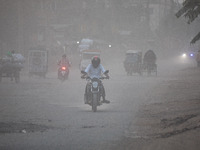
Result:
{"label": "dark tree foliage hanging in at the top right corner", "polygon": [[[175,14],[177,18],[184,16],[188,19],[188,24],[193,22],[200,14],[200,0],[185,0],[183,7]],[[194,44],[200,40],[200,32],[190,42]]]}

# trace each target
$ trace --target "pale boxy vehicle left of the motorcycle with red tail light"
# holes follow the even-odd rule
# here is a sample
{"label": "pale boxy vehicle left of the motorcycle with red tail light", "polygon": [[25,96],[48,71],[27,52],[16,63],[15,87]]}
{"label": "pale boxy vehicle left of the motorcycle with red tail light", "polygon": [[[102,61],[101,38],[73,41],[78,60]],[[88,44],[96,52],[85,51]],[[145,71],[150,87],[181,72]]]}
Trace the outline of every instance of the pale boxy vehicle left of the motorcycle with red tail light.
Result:
{"label": "pale boxy vehicle left of the motorcycle with red tail light", "polygon": [[40,49],[29,50],[28,54],[29,75],[46,77],[48,70],[48,51]]}

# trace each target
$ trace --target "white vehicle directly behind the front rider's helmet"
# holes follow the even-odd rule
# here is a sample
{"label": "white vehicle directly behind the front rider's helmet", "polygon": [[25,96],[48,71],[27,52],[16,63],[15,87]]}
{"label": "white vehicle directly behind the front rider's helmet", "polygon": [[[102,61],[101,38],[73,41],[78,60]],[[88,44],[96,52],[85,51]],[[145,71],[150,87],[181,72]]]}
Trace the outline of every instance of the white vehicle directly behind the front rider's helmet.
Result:
{"label": "white vehicle directly behind the front rider's helmet", "polygon": [[80,70],[85,70],[86,67],[91,63],[93,56],[100,57],[101,52],[99,50],[84,50],[81,53]]}

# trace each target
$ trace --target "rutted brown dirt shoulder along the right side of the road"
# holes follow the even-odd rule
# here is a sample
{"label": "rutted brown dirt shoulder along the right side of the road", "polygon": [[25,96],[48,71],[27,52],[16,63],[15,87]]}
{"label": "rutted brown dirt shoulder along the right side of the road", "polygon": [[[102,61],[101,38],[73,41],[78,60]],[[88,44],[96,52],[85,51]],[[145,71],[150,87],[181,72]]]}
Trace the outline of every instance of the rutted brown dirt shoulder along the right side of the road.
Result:
{"label": "rutted brown dirt shoulder along the right side of the road", "polygon": [[200,69],[190,65],[149,90],[117,150],[199,149]]}

